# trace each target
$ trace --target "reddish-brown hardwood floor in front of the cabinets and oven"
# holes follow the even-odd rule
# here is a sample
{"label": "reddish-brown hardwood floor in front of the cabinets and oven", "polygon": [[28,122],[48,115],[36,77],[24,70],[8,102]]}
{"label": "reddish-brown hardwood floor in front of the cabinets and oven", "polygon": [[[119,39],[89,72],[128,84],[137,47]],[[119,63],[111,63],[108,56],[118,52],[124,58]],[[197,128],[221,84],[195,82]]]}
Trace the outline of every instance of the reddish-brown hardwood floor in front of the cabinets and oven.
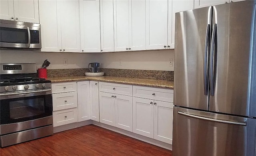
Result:
{"label": "reddish-brown hardwood floor in front of the cabinets and oven", "polygon": [[88,125],[0,149],[1,156],[172,156],[172,151]]}

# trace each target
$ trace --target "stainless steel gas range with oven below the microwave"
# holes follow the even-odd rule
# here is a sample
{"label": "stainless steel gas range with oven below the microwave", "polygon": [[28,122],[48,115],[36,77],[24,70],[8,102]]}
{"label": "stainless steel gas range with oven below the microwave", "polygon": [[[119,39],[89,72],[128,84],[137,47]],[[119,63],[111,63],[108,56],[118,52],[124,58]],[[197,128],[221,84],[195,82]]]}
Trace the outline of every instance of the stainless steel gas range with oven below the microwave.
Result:
{"label": "stainless steel gas range with oven below the microwave", "polygon": [[52,135],[51,82],[36,77],[35,64],[0,64],[0,71],[1,147]]}

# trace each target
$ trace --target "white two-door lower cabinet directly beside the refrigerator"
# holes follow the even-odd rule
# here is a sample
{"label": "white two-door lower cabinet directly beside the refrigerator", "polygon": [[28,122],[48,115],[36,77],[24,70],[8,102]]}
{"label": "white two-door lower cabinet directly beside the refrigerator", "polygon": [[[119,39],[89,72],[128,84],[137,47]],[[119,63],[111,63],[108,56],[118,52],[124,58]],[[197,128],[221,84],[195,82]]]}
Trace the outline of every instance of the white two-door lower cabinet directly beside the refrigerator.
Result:
{"label": "white two-door lower cabinet directly beside the refrigerator", "polygon": [[172,144],[173,104],[133,97],[133,132]]}

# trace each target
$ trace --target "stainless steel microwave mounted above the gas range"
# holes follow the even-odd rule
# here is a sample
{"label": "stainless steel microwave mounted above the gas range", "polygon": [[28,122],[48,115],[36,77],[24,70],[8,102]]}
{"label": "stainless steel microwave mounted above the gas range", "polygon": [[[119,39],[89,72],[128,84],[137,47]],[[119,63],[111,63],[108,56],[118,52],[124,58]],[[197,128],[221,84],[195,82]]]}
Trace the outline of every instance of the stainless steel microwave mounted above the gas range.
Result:
{"label": "stainless steel microwave mounted above the gas range", "polygon": [[19,49],[40,49],[40,24],[0,20],[0,47]]}

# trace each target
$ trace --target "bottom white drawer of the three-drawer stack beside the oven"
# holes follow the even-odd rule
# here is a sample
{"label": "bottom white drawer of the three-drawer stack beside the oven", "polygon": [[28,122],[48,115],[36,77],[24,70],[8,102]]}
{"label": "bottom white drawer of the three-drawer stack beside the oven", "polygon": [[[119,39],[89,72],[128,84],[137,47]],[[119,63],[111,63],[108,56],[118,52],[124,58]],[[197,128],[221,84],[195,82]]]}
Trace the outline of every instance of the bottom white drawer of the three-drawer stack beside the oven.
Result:
{"label": "bottom white drawer of the three-drawer stack beside the oven", "polygon": [[77,108],[53,112],[53,126],[77,122]]}

